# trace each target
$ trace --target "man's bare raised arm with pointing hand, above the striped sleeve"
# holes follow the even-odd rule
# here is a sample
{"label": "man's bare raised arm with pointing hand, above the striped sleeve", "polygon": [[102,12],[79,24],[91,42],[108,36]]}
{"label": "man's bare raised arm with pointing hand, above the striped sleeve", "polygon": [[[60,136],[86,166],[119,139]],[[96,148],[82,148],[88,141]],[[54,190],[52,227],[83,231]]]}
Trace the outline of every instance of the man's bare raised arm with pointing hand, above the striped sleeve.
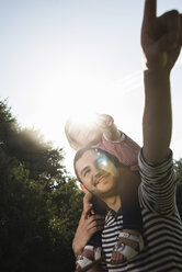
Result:
{"label": "man's bare raised arm with pointing hand, above the striped sleeve", "polygon": [[170,72],[182,42],[182,16],[178,11],[170,11],[157,18],[156,2],[146,0],[141,29],[147,68],[144,72],[143,154],[146,161],[152,163],[169,154],[172,132]]}

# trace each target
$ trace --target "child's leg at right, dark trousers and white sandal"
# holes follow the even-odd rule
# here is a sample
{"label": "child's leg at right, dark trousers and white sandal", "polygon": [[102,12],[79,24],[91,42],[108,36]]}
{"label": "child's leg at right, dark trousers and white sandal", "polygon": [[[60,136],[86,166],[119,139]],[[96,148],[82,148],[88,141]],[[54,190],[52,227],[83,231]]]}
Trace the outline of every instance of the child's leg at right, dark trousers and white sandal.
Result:
{"label": "child's leg at right, dark trousers and white sandal", "polygon": [[118,236],[111,262],[122,263],[139,253],[144,248],[143,219],[138,202],[138,184],[130,182],[121,192],[123,231]]}

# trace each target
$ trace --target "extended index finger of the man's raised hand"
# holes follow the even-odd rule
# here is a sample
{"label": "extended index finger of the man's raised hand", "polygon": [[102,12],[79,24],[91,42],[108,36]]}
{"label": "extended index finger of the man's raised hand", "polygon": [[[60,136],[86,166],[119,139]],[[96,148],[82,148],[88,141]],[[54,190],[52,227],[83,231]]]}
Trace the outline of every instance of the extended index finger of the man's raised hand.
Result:
{"label": "extended index finger of the man's raised hand", "polygon": [[144,9],[144,25],[148,29],[153,25],[153,21],[156,20],[157,11],[157,0],[146,0],[145,9]]}

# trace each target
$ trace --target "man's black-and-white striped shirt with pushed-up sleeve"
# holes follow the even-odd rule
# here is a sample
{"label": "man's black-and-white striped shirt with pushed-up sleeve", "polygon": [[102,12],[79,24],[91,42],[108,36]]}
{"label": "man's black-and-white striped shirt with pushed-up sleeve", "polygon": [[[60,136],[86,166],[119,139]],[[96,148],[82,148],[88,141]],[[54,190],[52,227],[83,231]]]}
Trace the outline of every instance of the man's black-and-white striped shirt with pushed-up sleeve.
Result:
{"label": "man's black-and-white striped shirt with pushed-up sleeve", "polygon": [[102,233],[105,256],[102,265],[109,272],[182,272],[182,222],[175,205],[172,152],[157,166],[147,163],[140,152],[139,167],[141,183],[138,195],[145,249],[124,264],[110,263],[123,216],[109,211]]}

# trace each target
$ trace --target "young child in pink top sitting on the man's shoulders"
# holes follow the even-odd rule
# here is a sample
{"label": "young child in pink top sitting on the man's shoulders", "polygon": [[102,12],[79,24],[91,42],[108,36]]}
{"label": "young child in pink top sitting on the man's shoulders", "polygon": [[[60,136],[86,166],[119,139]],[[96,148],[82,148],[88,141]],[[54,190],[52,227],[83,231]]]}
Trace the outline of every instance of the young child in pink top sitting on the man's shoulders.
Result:
{"label": "young child in pink top sitting on the man's shoulders", "polygon": [[[87,146],[99,148],[115,156],[120,162],[130,167],[132,171],[139,170],[137,157],[140,147],[127,135],[117,129],[112,116],[98,114],[92,124],[79,124],[79,122],[68,120],[65,125],[65,133],[69,145],[76,151]],[[102,168],[102,162],[100,168]],[[138,186],[138,184],[136,184],[136,186]],[[132,205],[127,203],[127,200],[130,197],[128,197],[128,195],[127,197],[125,197],[124,194],[122,195],[123,231],[113,250],[111,258],[111,262],[113,263],[129,260],[144,248],[140,208],[137,202],[137,194],[134,195],[132,192],[129,194],[133,194]],[[102,203],[99,203],[95,196],[93,196],[93,206],[95,213],[104,213]],[[135,218],[130,216],[134,209],[136,211]],[[86,271],[99,260],[101,260],[101,231],[92,236],[89,245],[84,247],[82,254],[77,258],[76,271]]]}

